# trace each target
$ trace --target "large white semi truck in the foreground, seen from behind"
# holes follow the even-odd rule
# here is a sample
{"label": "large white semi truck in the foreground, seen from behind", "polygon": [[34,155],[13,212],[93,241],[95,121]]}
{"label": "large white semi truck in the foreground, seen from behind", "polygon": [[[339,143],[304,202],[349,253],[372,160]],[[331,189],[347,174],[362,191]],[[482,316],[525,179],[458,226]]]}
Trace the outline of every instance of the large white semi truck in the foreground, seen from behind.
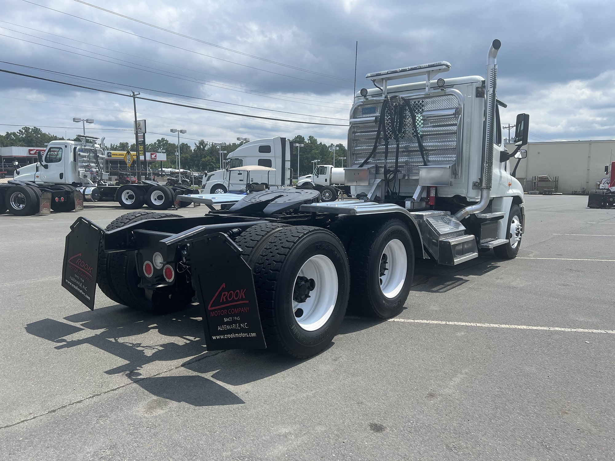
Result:
{"label": "large white semi truck in the foreground, seen from behind", "polygon": [[[155,312],[196,295],[207,350],[306,358],[330,345],[347,309],[399,315],[413,299],[416,258],[454,266],[491,249],[515,258],[525,213],[509,173],[517,152],[502,145],[499,47],[484,78],[435,80],[444,61],[368,74],[376,89],[355,98],[344,168],[354,198],[321,202],[314,189],[282,187],[181,196],[214,208],[200,218],[139,211],[105,229],[79,218],[62,285],[90,309],[97,284],[114,302]],[[515,151],[527,130],[520,114]]]}

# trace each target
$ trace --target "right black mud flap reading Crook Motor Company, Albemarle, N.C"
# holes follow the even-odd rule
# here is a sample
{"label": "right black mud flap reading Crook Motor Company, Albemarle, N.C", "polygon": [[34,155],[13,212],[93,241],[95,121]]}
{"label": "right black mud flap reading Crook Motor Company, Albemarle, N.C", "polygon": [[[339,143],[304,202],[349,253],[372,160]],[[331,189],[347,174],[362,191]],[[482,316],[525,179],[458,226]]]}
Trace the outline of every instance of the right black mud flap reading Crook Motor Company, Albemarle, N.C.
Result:
{"label": "right black mud flap reading Crook Motor Company, Albemarle, N.C", "polygon": [[252,270],[226,235],[192,242],[194,289],[204,307],[207,350],[265,349]]}

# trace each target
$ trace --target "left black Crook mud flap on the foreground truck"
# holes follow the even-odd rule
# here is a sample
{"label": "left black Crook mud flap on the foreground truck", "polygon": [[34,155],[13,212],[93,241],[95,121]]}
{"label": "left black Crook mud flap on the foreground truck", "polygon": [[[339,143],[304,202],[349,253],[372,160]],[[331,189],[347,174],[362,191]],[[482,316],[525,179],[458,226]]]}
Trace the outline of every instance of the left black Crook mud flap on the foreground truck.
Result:
{"label": "left black Crook mud flap on the foreground truck", "polygon": [[98,269],[98,245],[103,229],[89,219],[78,218],[66,235],[62,286],[94,309]]}

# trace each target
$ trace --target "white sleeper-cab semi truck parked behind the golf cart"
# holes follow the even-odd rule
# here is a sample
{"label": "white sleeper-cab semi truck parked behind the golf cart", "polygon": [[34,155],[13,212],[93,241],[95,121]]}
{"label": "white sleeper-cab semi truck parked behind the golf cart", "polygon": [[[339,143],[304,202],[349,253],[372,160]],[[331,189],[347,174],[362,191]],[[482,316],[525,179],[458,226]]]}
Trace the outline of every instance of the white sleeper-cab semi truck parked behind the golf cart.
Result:
{"label": "white sleeper-cab semi truck parked behind the golf cart", "polygon": [[[247,184],[267,184],[268,186],[290,187],[293,184],[290,169],[290,154],[292,142],[287,138],[268,138],[242,144],[226,157],[226,168],[216,170],[203,177],[202,194],[226,194],[246,190]],[[265,170],[252,170],[247,175],[239,167],[257,165],[274,168],[268,173]]]}

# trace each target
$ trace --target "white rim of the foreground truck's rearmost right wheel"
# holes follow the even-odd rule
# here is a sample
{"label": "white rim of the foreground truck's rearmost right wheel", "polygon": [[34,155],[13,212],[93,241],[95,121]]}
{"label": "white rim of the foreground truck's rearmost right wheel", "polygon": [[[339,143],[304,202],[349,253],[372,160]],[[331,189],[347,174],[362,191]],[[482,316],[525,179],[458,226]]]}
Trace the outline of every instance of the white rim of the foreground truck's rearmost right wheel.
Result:
{"label": "white rim of the foreground truck's rearmost right wheel", "polygon": [[[304,302],[295,301],[298,297],[298,282],[301,278],[314,280],[314,289]],[[338,272],[331,259],[324,254],[316,254],[304,262],[295,277],[293,285],[293,313],[299,326],[306,331],[321,328],[331,317],[338,299]]]}

